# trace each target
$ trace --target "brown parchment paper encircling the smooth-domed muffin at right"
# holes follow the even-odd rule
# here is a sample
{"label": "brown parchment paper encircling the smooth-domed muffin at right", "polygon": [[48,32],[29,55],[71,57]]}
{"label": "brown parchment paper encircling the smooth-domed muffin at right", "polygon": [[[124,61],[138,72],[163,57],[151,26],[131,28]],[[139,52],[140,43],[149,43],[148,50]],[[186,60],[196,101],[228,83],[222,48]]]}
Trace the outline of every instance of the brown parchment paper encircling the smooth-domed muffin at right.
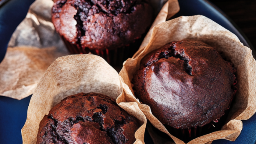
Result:
{"label": "brown parchment paper encircling the smooth-domed muffin at right", "polygon": [[146,54],[169,42],[183,39],[201,40],[215,47],[217,51],[222,51],[227,58],[230,58],[237,69],[238,80],[236,85],[238,91],[226,125],[222,127],[221,131],[203,135],[188,143],[204,144],[211,143],[216,139],[234,141],[242,130],[243,123],[241,120],[249,119],[256,111],[256,61],[251,50],[244,46],[233,33],[204,16],[181,16],[160,23],[153,28],[148,44],[134,54],[133,58],[123,63],[119,75],[123,78],[124,83],[129,86],[129,89],[124,90],[126,95],[121,101],[137,102],[147,119],[156,128],[168,134],[177,144],[183,144],[183,141],[169,134],[161,122],[152,115],[148,105],[140,104],[139,100],[134,97],[130,83],[133,74],[139,68],[140,60]]}

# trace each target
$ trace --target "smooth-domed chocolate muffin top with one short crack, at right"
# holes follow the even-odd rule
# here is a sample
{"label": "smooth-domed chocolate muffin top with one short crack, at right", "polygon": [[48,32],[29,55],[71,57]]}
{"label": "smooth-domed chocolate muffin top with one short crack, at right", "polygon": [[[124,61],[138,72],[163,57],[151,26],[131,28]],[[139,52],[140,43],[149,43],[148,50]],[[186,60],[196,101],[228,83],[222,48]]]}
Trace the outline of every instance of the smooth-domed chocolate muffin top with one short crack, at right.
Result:
{"label": "smooth-domed chocolate muffin top with one short crack, at right", "polygon": [[132,82],[135,95],[162,124],[181,129],[216,121],[234,93],[230,63],[196,40],[152,51],[142,59]]}

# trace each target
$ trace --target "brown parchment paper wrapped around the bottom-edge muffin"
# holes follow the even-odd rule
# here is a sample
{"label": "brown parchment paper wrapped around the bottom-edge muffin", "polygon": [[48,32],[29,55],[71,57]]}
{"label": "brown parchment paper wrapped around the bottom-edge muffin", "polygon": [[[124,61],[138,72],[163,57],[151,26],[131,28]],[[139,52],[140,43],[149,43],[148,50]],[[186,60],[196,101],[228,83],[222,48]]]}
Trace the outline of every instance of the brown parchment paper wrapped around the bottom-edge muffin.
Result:
{"label": "brown parchment paper wrapped around the bottom-edge muffin", "polygon": [[[123,96],[118,73],[101,57],[92,54],[68,55],[56,59],[41,78],[31,97],[27,121],[21,130],[23,144],[35,144],[39,123],[51,108],[67,96],[77,93],[102,93],[116,99]],[[120,103],[125,111],[141,122],[136,144],[144,144],[146,117],[138,104]]]}

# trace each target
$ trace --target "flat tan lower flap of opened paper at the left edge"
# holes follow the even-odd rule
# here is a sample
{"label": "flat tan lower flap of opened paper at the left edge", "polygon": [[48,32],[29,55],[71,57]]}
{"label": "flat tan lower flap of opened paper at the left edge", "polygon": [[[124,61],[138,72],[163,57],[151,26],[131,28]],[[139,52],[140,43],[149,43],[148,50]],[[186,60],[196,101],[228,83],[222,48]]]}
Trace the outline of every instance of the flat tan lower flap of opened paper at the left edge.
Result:
{"label": "flat tan lower flap of opened paper at the left edge", "polygon": [[56,47],[8,48],[0,63],[0,95],[18,100],[31,95],[44,72],[59,56],[63,54]]}

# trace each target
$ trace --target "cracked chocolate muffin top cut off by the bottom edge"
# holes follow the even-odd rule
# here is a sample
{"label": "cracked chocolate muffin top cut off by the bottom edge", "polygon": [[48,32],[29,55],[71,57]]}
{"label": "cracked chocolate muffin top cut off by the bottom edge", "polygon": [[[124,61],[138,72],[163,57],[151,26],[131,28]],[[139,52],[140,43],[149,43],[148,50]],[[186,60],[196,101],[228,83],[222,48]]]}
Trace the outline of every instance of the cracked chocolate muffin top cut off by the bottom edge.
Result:
{"label": "cracked chocolate muffin top cut off by the bottom edge", "polygon": [[39,125],[37,144],[133,144],[138,120],[103,94],[78,93],[55,105]]}

